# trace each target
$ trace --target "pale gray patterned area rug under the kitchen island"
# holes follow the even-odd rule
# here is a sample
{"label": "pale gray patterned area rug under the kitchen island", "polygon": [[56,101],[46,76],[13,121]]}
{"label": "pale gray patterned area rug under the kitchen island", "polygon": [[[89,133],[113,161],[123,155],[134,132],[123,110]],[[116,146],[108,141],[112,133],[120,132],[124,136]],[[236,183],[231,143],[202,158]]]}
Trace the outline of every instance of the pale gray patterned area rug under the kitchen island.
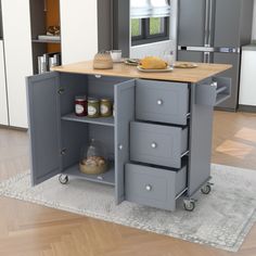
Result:
{"label": "pale gray patterned area rug under the kitchen island", "polygon": [[1,182],[0,195],[236,252],[256,222],[256,170],[213,165],[212,175],[213,191],[199,195],[193,213],[182,201],[174,213],[129,202],[116,206],[112,187],[75,178],[31,188],[29,174]]}

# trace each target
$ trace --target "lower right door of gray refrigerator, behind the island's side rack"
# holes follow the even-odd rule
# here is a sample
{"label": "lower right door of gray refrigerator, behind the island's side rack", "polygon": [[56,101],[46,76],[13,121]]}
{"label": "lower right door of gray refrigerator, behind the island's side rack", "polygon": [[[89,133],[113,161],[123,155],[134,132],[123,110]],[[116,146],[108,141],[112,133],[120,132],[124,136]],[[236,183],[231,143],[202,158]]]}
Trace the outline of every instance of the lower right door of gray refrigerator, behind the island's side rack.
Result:
{"label": "lower right door of gray refrigerator, behind the island's side rack", "polygon": [[239,98],[240,54],[214,53],[214,62],[219,64],[233,65],[231,69],[217,75],[217,77],[229,77],[232,80],[231,97],[223,103],[220,103],[218,107],[235,110],[238,107]]}

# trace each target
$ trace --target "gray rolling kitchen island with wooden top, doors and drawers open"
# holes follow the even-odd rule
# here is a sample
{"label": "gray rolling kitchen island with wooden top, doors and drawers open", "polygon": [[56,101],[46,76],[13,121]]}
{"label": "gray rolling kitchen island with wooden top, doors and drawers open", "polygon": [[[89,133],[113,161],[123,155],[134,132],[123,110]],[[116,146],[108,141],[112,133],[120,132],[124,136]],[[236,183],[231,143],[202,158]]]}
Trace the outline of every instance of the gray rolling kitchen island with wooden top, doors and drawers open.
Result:
{"label": "gray rolling kitchen island with wooden top, doors and drawers open", "polygon": [[[231,66],[148,74],[124,65],[97,71],[85,62],[27,78],[33,184],[75,176],[113,185],[116,204],[175,210],[183,196],[192,210],[195,193],[209,191],[214,106],[230,97],[230,79],[215,75]],[[76,117],[77,94],[111,98],[115,117]],[[102,175],[79,171],[80,149],[92,138],[112,163]]]}

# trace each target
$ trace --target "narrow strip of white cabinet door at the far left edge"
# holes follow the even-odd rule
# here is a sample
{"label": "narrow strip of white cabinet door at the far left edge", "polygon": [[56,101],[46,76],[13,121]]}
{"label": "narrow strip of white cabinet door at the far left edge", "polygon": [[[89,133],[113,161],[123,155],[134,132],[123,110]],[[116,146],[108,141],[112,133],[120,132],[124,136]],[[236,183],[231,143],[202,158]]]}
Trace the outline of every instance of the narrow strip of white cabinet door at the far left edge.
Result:
{"label": "narrow strip of white cabinet door at the far left edge", "polygon": [[7,101],[7,85],[5,85],[5,67],[3,42],[0,41],[0,125],[8,126],[8,101]]}

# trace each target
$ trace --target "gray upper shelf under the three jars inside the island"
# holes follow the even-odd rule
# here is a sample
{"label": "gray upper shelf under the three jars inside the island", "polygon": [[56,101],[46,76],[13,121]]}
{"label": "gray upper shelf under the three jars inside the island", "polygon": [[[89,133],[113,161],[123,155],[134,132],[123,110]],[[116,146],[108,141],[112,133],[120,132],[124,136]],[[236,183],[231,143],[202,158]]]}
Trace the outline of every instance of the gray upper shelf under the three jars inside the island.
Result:
{"label": "gray upper shelf under the three jars inside the island", "polygon": [[100,126],[115,126],[114,117],[98,117],[98,118],[90,118],[87,116],[76,116],[74,113],[65,115],[62,117],[63,120],[71,120],[71,121],[80,121],[80,123],[88,123],[93,125]]}

